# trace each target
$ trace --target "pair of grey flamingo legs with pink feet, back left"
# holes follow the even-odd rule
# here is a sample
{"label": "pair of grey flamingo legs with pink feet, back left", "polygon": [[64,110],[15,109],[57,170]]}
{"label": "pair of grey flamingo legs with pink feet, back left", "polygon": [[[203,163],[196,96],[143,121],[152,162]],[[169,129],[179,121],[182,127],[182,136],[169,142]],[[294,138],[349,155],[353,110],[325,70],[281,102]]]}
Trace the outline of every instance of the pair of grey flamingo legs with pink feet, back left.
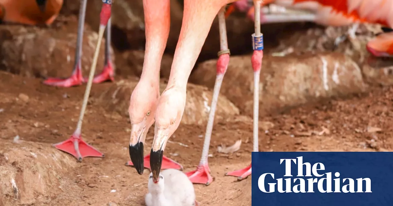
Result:
{"label": "pair of grey flamingo legs with pink feet, back left", "polygon": [[[42,0],[37,0],[42,1]],[[104,0],[103,0],[104,1]],[[113,1],[113,0],[111,0]],[[44,80],[44,84],[49,86],[57,86],[57,87],[72,87],[78,86],[86,82],[86,78],[82,77],[81,70],[81,57],[82,57],[82,40],[83,40],[83,27],[84,27],[84,17],[86,14],[86,4],[87,0],[81,0],[81,6],[79,9],[79,20],[78,20],[78,35],[77,35],[77,43],[75,48],[75,62],[72,70],[71,77],[63,79],[63,78],[52,78],[49,77]],[[110,58],[109,48],[110,48],[110,35],[111,35],[111,22],[108,20],[107,24],[107,35],[105,42],[105,59],[104,59],[104,68],[101,74],[97,75],[93,79],[93,83],[101,83],[107,80],[114,81],[114,70],[112,66],[112,60]]]}

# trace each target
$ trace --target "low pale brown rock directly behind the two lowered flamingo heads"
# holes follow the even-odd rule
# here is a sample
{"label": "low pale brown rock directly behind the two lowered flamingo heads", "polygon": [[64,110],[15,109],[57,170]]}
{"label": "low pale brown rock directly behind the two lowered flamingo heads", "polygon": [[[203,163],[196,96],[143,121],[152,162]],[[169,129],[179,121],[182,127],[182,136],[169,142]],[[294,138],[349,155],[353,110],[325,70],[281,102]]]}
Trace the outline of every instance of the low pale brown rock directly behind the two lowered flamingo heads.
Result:
{"label": "low pale brown rock directly behind the two lowered flamingo heads", "polygon": [[[107,111],[115,111],[128,117],[131,93],[137,83],[136,79],[116,82],[102,93],[98,100],[99,104],[103,105]],[[166,84],[160,83],[160,93],[165,88]],[[205,124],[209,116],[212,95],[212,91],[204,86],[188,84],[182,124]],[[232,102],[224,96],[219,97],[215,121],[225,120],[238,114],[239,109]]]}

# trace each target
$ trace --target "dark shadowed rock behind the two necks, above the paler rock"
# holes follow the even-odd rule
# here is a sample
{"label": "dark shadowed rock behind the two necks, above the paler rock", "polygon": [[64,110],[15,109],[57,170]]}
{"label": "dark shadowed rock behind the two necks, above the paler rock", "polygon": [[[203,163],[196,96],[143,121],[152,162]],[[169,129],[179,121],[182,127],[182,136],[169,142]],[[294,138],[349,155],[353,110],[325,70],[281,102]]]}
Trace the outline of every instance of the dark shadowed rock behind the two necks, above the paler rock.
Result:
{"label": "dark shadowed rock behind the two necks, above the paler rock", "polygon": [[[133,74],[137,77],[140,77],[142,74],[144,57],[145,51],[143,50],[131,50],[123,53],[123,58],[127,59],[128,65],[132,68]],[[171,55],[163,55],[161,60],[160,77],[169,78],[172,61],[173,57]]]}

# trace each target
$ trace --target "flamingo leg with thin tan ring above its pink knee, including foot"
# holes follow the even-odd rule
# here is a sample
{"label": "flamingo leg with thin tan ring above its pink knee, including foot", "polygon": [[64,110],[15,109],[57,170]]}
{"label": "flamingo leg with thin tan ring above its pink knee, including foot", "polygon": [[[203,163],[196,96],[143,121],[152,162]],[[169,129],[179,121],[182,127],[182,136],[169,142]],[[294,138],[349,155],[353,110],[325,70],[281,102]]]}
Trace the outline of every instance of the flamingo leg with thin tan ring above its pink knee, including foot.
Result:
{"label": "flamingo leg with thin tan ring above its pink knee, including foot", "polygon": [[208,166],[209,145],[211,139],[211,132],[213,130],[214,115],[217,108],[217,100],[220,93],[220,88],[224,74],[228,68],[230,51],[228,49],[228,41],[226,35],[225,25],[225,6],[222,7],[218,13],[219,29],[220,29],[220,51],[218,53],[219,59],[217,60],[217,76],[213,89],[213,98],[211,100],[208,124],[206,126],[205,140],[203,143],[202,157],[199,165],[194,171],[187,172],[186,175],[193,183],[209,185],[213,182],[214,178],[210,175]]}

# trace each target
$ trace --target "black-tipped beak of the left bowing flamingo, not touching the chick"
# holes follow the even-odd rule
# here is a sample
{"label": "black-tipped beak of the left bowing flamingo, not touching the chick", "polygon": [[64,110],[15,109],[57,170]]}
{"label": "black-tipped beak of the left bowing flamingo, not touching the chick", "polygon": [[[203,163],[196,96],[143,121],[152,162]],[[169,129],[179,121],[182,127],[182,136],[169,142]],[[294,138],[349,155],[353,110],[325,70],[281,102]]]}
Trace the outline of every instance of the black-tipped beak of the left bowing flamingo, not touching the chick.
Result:
{"label": "black-tipped beak of the left bowing flamingo, not touching the chick", "polygon": [[143,174],[145,169],[143,162],[143,142],[145,142],[145,122],[140,122],[139,124],[131,124],[131,137],[129,145],[129,153],[132,164],[138,174]]}

